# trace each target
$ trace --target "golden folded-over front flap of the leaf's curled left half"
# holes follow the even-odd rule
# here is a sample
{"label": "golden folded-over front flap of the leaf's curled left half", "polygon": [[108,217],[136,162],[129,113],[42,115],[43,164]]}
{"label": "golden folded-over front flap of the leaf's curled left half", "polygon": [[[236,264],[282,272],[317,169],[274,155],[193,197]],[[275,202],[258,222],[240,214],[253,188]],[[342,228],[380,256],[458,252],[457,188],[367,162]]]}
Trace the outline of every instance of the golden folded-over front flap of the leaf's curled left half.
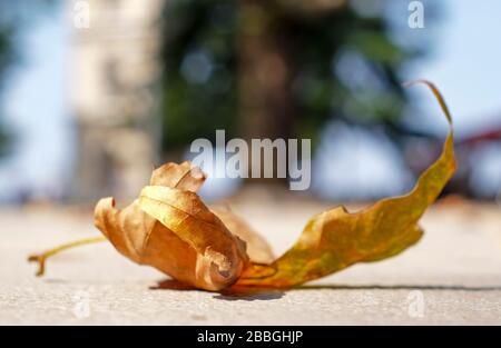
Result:
{"label": "golden folded-over front flap of the leaf's curled left half", "polygon": [[234,284],[247,266],[245,242],[234,236],[196,193],[147,186],[141,191],[139,207],[195,250],[197,259],[193,266],[197,287],[220,290]]}

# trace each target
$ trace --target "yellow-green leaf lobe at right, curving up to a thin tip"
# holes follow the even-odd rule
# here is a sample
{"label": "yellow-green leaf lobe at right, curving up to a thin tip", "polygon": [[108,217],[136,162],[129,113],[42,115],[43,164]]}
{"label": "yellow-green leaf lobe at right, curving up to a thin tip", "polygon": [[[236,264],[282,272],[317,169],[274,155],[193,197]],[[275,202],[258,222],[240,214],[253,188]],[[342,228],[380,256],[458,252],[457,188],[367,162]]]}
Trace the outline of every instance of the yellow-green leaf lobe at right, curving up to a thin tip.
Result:
{"label": "yellow-green leaf lobe at right, curving up to a thin tip", "polygon": [[269,266],[252,265],[237,286],[287,288],[328,276],[357,262],[395,256],[416,243],[423,231],[418,221],[455,171],[452,118],[436,90],[429,86],[450,123],[440,158],[406,196],[389,198],[355,213],[344,207],[313,217],[298,241]]}

